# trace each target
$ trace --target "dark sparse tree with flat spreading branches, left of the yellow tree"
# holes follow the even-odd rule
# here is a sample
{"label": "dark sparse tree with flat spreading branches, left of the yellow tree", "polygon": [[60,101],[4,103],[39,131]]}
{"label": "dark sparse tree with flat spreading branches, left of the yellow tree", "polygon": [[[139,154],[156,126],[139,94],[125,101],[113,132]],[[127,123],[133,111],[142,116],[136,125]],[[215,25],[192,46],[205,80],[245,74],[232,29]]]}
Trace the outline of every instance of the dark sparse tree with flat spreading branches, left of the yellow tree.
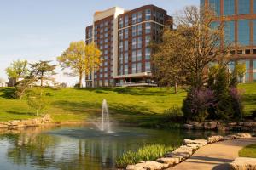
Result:
{"label": "dark sparse tree with flat spreading branches, left of the yellow tree", "polygon": [[41,87],[44,84],[45,79],[49,79],[50,76],[55,75],[55,68],[57,65],[50,65],[51,61],[39,61],[31,65],[31,73],[38,80],[40,80]]}

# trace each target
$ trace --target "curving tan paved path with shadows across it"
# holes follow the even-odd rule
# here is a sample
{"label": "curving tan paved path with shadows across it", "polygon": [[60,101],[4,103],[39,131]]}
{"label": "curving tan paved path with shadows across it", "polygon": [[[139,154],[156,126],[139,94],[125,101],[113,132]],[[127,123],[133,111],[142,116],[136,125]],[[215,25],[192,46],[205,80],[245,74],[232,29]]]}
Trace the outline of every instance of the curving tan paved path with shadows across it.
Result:
{"label": "curving tan paved path with shadows across it", "polygon": [[197,150],[193,156],[170,170],[226,170],[228,163],[238,157],[242,147],[256,144],[256,138],[225,140],[215,144],[208,144]]}

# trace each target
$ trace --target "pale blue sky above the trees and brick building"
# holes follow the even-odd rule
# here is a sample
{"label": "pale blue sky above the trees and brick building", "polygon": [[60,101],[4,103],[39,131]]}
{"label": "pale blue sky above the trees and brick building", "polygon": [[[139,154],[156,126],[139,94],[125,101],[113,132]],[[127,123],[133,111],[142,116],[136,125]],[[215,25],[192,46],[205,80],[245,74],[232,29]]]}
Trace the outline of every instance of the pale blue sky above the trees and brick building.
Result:
{"label": "pale blue sky above the trees and brick building", "polygon": [[[7,80],[5,68],[12,61],[53,60],[72,41],[84,40],[95,11],[119,6],[125,9],[154,4],[169,15],[200,0],[0,0],[0,78]],[[57,70],[57,81],[73,85],[78,77],[64,77]]]}

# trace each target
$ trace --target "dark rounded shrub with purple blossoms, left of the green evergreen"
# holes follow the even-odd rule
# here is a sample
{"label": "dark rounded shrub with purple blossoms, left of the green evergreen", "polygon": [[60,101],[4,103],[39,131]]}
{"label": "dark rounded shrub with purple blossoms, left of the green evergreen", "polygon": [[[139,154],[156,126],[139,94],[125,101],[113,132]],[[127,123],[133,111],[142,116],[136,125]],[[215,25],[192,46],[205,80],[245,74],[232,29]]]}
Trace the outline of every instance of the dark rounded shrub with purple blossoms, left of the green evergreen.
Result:
{"label": "dark rounded shrub with purple blossoms, left of the green evergreen", "polygon": [[204,121],[208,116],[208,109],[214,105],[214,94],[210,89],[189,90],[187,98],[183,100],[183,114],[186,119]]}

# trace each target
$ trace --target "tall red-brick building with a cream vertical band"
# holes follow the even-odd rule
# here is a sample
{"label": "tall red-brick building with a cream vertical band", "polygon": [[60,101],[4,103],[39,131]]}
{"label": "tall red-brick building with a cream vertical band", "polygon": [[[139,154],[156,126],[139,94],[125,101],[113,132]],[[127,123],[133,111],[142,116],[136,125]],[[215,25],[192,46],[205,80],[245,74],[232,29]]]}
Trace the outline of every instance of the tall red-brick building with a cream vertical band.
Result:
{"label": "tall red-brick building with a cream vertical band", "polygon": [[102,51],[102,65],[87,77],[87,86],[155,86],[148,45],[160,41],[165,26],[172,26],[172,17],[154,5],[96,12],[85,41]]}

